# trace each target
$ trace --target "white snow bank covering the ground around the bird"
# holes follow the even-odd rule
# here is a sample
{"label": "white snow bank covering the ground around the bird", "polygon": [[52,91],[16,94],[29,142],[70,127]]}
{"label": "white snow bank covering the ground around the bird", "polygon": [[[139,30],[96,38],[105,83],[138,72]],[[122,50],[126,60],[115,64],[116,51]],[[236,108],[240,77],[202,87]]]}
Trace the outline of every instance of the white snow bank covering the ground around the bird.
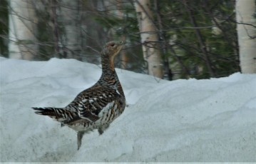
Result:
{"label": "white snow bank covering the ground around the bird", "polygon": [[0,58],[1,162],[256,162],[256,75],[156,80],[116,69],[129,106],[99,136],[31,107],[63,107],[101,76],[73,59]]}

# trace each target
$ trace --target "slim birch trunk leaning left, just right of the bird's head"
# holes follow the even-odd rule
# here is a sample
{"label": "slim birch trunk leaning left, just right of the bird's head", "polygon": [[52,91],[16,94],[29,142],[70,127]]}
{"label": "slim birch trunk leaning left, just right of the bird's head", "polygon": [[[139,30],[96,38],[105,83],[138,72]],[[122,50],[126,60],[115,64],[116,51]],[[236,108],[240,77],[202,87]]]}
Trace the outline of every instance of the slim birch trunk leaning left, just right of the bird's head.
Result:
{"label": "slim birch trunk leaning left, just right of the bird's head", "polygon": [[143,43],[143,57],[148,63],[148,73],[163,78],[163,61],[160,56],[157,29],[153,24],[153,14],[150,10],[150,0],[136,0],[134,5]]}

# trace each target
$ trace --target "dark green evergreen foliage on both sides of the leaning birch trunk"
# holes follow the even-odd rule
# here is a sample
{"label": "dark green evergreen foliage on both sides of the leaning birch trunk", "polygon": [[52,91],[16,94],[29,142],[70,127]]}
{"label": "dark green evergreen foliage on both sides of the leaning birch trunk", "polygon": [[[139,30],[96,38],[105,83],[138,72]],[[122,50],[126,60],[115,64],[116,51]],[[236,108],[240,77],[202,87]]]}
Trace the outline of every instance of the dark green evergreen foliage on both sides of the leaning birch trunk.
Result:
{"label": "dark green evergreen foliage on both sides of the leaning birch trunk", "polygon": [[[152,19],[163,45],[161,49],[167,50],[162,51],[163,58],[168,58],[168,66],[176,75],[174,78],[221,77],[240,71],[233,1],[152,2],[151,9],[155,13]],[[115,35],[126,35],[133,47],[140,42],[138,21],[133,5],[124,6],[125,18],[101,14],[96,20],[101,26],[118,29]],[[138,54],[135,49],[133,52]]]}

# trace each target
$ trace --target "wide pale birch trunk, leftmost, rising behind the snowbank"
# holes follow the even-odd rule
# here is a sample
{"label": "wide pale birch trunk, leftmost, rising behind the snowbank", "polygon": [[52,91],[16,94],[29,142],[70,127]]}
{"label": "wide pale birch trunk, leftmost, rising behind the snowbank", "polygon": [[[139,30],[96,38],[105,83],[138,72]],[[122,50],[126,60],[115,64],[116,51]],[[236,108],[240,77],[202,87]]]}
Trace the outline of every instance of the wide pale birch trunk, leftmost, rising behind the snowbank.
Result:
{"label": "wide pale birch trunk, leftmost, rising behind the snowbank", "polygon": [[9,6],[9,57],[33,60],[38,46],[32,1],[10,0]]}

